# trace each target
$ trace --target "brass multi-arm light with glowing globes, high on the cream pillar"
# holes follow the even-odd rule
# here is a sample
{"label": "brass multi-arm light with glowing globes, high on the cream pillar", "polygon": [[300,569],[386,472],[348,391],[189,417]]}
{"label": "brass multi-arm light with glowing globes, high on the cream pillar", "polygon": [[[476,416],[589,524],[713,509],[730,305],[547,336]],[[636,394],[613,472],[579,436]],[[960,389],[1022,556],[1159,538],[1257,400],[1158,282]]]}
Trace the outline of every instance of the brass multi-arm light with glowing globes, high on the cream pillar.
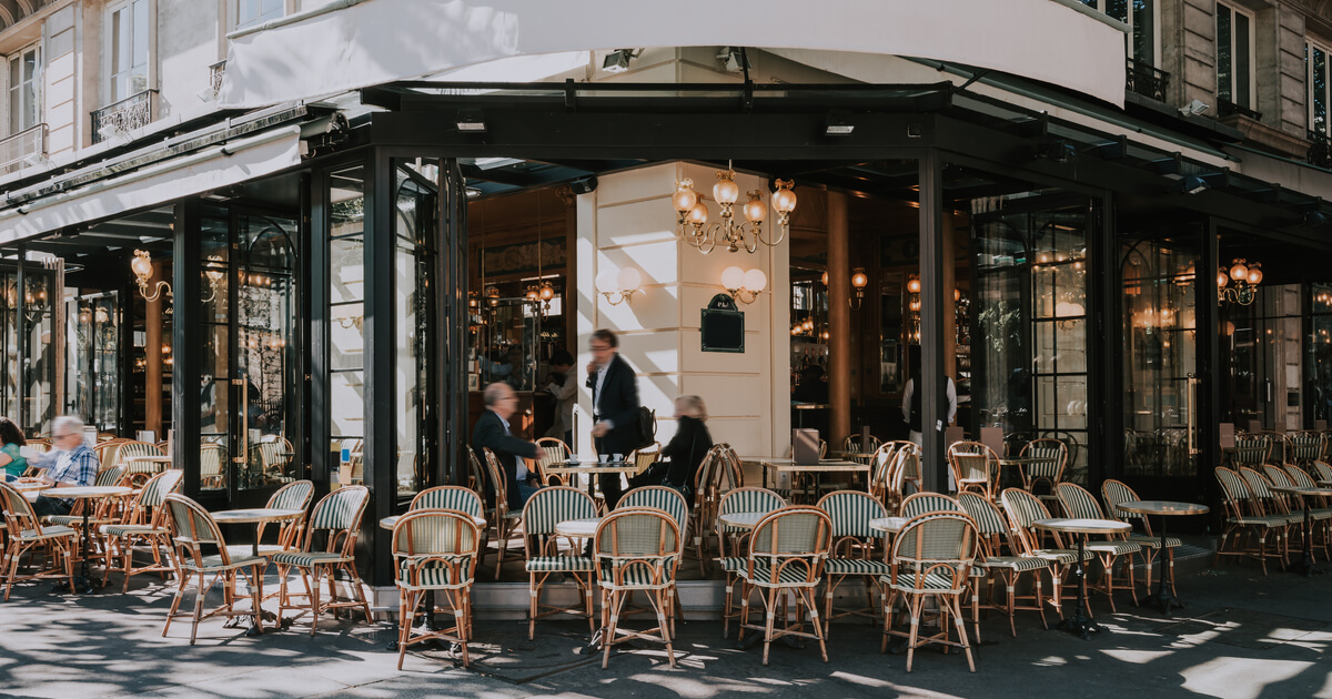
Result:
{"label": "brass multi-arm light with glowing globes, high on the cream pillar", "polygon": [[713,198],[721,205],[722,220],[707,225],[707,205],[703,197],[694,192],[694,181],[685,178],[675,182],[675,193],[671,194],[671,205],[675,206],[678,218],[675,226],[685,242],[698,248],[703,254],[713,252],[718,244],[726,245],[726,250],[735,253],[741,246],[746,252],[758,250],[759,244],[775,248],[786,238],[790,229],[791,212],[795,210],[795,192],[791,188],[795,182],[778,180],[777,190],[773,192],[773,210],[777,212],[777,238],[769,241],[763,233],[763,218],[767,216],[767,206],[763,204],[763,193],[758,189],[749,193],[749,201],[742,208],[745,222],[735,222],[735,202],[739,200],[741,188],[735,184],[735,170],[727,168],[717,170],[717,184],[713,185]]}

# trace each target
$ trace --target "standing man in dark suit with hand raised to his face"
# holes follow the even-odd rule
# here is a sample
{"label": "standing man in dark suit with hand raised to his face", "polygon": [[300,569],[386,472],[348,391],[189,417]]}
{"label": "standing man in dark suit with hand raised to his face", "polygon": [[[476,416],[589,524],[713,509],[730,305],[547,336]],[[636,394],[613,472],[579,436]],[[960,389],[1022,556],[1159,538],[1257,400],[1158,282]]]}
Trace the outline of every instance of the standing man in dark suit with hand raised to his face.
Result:
{"label": "standing man in dark suit with hand raised to his face", "polygon": [[[589,342],[591,362],[587,365],[587,387],[591,389],[591,435],[597,439],[597,454],[629,455],[638,449],[638,378],[634,369],[619,355],[619,338],[602,329],[591,334]],[[606,507],[614,509],[623,489],[619,474],[601,474],[601,494]]]}

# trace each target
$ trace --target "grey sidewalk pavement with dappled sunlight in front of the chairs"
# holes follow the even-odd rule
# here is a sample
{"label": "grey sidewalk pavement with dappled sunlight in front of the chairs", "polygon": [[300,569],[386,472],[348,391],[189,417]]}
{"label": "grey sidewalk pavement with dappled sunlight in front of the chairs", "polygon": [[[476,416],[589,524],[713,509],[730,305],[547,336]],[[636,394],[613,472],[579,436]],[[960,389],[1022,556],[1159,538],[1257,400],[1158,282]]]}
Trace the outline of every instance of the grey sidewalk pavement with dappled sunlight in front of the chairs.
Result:
{"label": "grey sidewalk pavement with dappled sunlight in front of the chairs", "polygon": [[1332,574],[1263,577],[1248,563],[1181,575],[1179,591],[1192,607],[1173,619],[1134,607],[1127,594],[1111,614],[1096,596],[1092,611],[1107,630],[1086,642],[1042,630],[1035,612],[1019,612],[1011,638],[1007,620],[991,614],[975,674],[960,655],[928,648],[907,674],[904,656],[879,654],[867,620],[832,624],[826,664],[813,643],[798,650],[778,642],[769,667],[762,646],[737,650],[721,638],[721,622],[691,620],[678,628],[674,670],[659,646],[622,646],[602,670],[599,654],[579,654],[586,622],[538,622],[529,642],[526,622],[478,620],[470,670],[456,668],[445,651],[413,650],[400,672],[397,654],[385,650],[390,627],[364,619],[326,616],[313,639],[304,618],[257,638],[209,619],[190,647],[189,619],[180,618],[163,638],[172,592],[147,578],[136,578],[128,595],[115,577],[81,596],[51,592],[47,582],[16,586],[0,604],[0,696],[1332,699]]}

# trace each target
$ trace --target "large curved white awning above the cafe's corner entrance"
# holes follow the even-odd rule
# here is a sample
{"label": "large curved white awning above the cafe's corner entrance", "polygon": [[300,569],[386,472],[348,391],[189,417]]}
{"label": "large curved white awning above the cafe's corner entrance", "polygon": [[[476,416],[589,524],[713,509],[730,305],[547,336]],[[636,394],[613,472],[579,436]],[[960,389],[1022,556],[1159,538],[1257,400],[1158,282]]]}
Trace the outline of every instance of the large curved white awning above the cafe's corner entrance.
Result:
{"label": "large curved white awning above the cafe's corner entrance", "polygon": [[1124,33],[1055,0],[344,0],[240,33],[217,101],[260,108],[514,56],[770,47],[919,56],[1124,103]]}

